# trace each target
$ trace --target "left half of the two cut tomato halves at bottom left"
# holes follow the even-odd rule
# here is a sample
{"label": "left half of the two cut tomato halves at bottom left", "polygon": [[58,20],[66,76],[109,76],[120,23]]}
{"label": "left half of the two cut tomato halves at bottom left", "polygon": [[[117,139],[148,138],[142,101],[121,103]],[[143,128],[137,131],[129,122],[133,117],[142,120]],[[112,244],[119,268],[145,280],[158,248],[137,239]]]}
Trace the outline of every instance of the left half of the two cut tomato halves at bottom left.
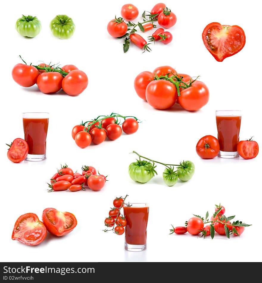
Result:
{"label": "left half of the two cut tomato halves at bottom left", "polygon": [[12,240],[35,246],[45,240],[46,234],[46,226],[39,220],[38,216],[34,213],[26,213],[16,220]]}

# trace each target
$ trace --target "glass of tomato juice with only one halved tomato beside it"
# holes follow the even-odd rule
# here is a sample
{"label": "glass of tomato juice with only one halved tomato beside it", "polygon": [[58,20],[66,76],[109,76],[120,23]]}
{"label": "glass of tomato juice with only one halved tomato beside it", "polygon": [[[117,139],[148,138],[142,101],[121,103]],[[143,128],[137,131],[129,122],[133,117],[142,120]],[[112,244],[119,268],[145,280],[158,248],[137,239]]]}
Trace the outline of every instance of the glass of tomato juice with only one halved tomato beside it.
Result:
{"label": "glass of tomato juice with only one halved tomato beside it", "polygon": [[28,144],[28,161],[43,161],[46,159],[46,135],[49,113],[23,113],[24,139]]}

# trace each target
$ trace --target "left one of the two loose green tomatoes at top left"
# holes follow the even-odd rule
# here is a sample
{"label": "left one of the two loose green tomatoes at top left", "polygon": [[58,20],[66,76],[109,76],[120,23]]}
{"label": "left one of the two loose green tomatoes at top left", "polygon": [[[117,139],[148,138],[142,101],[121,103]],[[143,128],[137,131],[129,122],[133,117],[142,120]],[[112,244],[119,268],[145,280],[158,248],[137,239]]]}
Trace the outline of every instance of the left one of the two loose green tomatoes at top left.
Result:
{"label": "left one of the two loose green tomatoes at top left", "polygon": [[35,37],[41,30],[41,22],[37,17],[22,15],[22,18],[16,21],[15,29],[22,36]]}

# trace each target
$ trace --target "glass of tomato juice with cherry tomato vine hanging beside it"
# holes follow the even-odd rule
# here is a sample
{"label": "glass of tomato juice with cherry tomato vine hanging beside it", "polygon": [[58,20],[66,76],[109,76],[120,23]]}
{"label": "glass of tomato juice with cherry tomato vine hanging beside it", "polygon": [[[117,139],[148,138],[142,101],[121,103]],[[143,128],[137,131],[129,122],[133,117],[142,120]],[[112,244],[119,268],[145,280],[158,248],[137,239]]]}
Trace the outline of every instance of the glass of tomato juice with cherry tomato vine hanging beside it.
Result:
{"label": "glass of tomato juice with cherry tomato vine hanging beside it", "polygon": [[125,227],[125,250],[146,250],[146,227],[149,206],[147,203],[124,203],[124,217],[127,220]]}

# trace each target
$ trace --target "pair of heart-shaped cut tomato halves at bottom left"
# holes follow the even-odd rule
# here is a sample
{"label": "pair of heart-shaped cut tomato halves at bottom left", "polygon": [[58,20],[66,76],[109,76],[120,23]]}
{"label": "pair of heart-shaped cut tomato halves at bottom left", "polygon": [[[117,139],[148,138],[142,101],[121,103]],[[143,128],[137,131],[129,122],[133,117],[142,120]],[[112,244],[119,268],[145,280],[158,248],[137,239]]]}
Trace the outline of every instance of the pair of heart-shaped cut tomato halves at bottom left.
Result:
{"label": "pair of heart-shaped cut tomato halves at bottom left", "polygon": [[41,222],[35,213],[18,217],[13,228],[12,240],[35,246],[43,242],[47,231],[55,236],[64,236],[77,226],[77,219],[70,212],[60,212],[55,208],[43,210]]}

